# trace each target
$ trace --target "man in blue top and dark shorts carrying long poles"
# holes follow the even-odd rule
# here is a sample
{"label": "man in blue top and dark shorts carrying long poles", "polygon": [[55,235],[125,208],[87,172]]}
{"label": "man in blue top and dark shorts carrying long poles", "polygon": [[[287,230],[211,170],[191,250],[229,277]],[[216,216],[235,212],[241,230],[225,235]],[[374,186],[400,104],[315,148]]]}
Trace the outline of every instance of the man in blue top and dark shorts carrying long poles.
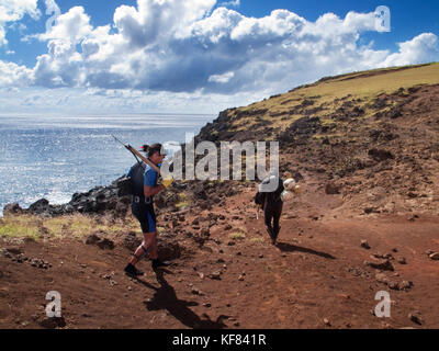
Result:
{"label": "man in blue top and dark shorts carrying long poles", "polygon": [[[155,144],[150,147],[144,146],[144,151],[148,152],[148,159],[156,166],[160,166],[166,157],[164,148],[160,144]],[[158,173],[148,165],[139,165],[145,167],[144,184],[140,186],[134,186],[133,184],[133,203],[132,211],[133,215],[138,219],[144,234],[144,241],[137,248],[133,259],[126,265],[125,273],[131,276],[139,276],[144,273],[136,269],[136,264],[144,254],[149,251],[150,258],[153,259],[153,269],[168,265],[165,262],[158,260],[157,253],[157,227],[156,227],[156,214],[154,212],[154,195],[162,192],[173,183],[173,179],[164,179],[160,185],[157,185]],[[134,166],[127,177],[134,172]],[[137,190],[136,190],[137,189]]]}

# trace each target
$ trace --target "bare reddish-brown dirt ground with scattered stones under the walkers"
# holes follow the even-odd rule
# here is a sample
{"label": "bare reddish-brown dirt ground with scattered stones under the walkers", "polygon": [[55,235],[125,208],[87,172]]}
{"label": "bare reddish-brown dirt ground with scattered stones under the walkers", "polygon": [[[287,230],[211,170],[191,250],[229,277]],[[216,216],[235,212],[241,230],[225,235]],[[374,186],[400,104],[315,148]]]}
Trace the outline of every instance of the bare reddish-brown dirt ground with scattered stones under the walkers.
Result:
{"label": "bare reddish-brown dirt ground with scattered stones under the walkers", "polygon": [[[439,263],[425,253],[439,251],[439,219],[340,217],[334,214],[336,205],[323,212],[336,200],[320,196],[316,207],[308,191],[302,202],[285,206],[273,247],[263,219],[256,219],[252,195],[248,189],[230,197],[227,207],[214,207],[212,213],[227,219],[211,228],[203,247],[181,235],[179,240],[192,246],[193,253],[161,272],[143,261],[146,275],[138,281],[122,273],[132,252],[119,237],[113,238],[114,250],[75,239],[21,245],[26,257],[44,259],[52,268],[0,257],[0,328],[439,327]],[[188,225],[194,218],[188,215]],[[227,224],[233,229],[226,230]],[[245,238],[230,239],[234,228]],[[371,249],[363,249],[361,240]],[[396,291],[378,282],[378,271],[364,265],[374,253],[392,253],[395,271],[384,273],[414,286]],[[402,257],[407,264],[397,262]],[[48,291],[61,294],[63,319],[56,322],[45,317]],[[379,291],[391,294],[391,318],[371,313]]]}

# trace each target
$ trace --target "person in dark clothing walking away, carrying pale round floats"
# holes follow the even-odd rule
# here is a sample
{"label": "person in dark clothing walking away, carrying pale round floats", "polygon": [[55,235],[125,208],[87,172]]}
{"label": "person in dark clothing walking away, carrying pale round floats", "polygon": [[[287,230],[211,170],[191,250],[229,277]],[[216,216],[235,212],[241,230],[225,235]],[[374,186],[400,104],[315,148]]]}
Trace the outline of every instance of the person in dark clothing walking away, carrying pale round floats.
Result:
{"label": "person in dark clothing walking away, carrying pale round floats", "polygon": [[[269,184],[277,181],[275,178],[278,178],[279,184],[278,188],[272,191],[272,188]],[[282,179],[278,176],[271,176],[262,181],[255,197],[256,204],[263,208],[267,231],[270,235],[273,245],[277,244],[281,230],[279,220],[281,219],[283,210],[283,201],[281,199],[283,191]]]}

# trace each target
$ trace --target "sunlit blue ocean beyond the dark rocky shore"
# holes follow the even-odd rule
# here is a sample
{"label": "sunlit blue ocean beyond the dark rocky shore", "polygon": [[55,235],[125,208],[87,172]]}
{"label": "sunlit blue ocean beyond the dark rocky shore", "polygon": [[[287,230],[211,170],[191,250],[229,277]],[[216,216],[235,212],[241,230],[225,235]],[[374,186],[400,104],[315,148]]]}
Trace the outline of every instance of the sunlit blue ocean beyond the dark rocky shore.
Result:
{"label": "sunlit blue ocean beyond the dark rocky shore", "polygon": [[108,185],[135,159],[112,134],[133,147],[161,143],[170,152],[215,115],[117,116],[0,115],[0,215],[10,203],[40,199],[63,204],[76,192]]}

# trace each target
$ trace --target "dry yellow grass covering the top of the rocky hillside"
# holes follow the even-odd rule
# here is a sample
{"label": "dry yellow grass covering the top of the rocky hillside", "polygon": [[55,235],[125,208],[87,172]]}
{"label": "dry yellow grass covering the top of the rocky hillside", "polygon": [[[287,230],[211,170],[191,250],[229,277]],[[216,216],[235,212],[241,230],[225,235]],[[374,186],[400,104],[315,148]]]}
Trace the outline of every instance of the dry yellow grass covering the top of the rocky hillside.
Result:
{"label": "dry yellow grass covering the top of the rocky hillside", "polygon": [[[327,78],[314,84],[305,86],[294,91],[233,111],[230,129],[236,132],[258,129],[256,125],[259,120],[270,122],[270,127],[280,127],[284,131],[291,123],[303,117],[305,114],[311,116],[318,115],[324,124],[331,124],[334,121],[329,118],[325,120],[324,116],[336,112],[337,109],[341,106],[342,101],[336,102],[335,100],[347,97],[349,97],[347,100],[362,100],[360,105],[363,106],[365,111],[363,117],[367,118],[375,113],[375,111],[369,110],[367,105],[378,95],[382,93],[393,93],[399,88],[408,89],[423,84],[437,83],[439,83],[439,63],[425,66],[412,66],[404,69],[401,67],[375,69]],[[313,105],[308,107],[301,106],[305,99],[312,100],[314,102]],[[319,106],[323,107],[323,110],[316,114],[292,113],[292,111],[299,106],[304,109],[304,111],[311,111]],[[267,112],[261,113],[261,111],[264,110],[267,110]],[[238,117],[243,112],[258,113],[250,116]],[[260,128],[263,127],[259,127],[259,129]],[[268,138],[270,138],[270,136],[268,136]]]}

